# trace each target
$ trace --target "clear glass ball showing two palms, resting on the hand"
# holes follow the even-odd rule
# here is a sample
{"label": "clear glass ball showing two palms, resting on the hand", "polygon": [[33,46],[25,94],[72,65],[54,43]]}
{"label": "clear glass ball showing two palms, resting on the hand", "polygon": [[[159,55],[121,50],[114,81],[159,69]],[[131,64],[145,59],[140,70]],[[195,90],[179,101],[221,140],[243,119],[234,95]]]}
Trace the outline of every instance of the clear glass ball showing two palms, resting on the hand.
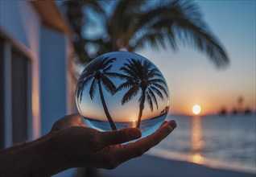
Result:
{"label": "clear glass ball showing two palms, resting on the hand", "polygon": [[128,51],[98,56],[76,85],[76,107],[88,126],[101,131],[137,127],[142,137],[162,125],[169,97],[155,64]]}

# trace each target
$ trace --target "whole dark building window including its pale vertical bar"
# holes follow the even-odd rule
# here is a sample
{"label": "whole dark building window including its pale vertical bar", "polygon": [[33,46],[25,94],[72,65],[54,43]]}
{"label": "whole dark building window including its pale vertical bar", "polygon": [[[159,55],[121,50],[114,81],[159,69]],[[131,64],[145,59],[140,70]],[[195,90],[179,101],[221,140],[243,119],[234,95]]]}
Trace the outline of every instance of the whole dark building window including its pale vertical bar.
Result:
{"label": "whole dark building window including its pale vertical bar", "polygon": [[31,60],[0,36],[0,148],[28,138],[31,115]]}

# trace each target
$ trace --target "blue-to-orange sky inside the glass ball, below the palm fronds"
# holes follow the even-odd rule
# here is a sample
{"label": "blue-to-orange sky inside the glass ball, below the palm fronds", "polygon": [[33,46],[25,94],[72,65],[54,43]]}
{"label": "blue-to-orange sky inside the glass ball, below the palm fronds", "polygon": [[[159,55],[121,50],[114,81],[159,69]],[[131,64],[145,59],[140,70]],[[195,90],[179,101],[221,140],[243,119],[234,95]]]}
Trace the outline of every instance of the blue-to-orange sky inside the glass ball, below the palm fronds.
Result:
{"label": "blue-to-orange sky inside the glass ball, below the palm fronds", "polygon": [[[100,121],[107,121],[105,112],[101,103],[101,98],[98,93],[95,94],[93,101],[89,98],[89,87],[85,88],[85,93],[83,94],[85,99],[81,101],[81,115],[84,117],[95,118]],[[121,104],[121,99],[123,92],[116,93],[111,96],[109,93],[104,91],[105,102],[108,107],[109,113],[114,121],[137,121],[139,113],[138,98],[139,95],[134,97],[131,101],[125,105]],[[98,91],[97,91],[98,92]],[[87,94],[87,95],[86,95]],[[145,108],[142,112],[142,120],[157,117],[160,115],[161,111],[165,109],[168,104],[168,99],[165,98],[163,101],[158,100],[159,109],[156,109],[154,105],[153,112],[149,108],[147,101],[145,101]]]}

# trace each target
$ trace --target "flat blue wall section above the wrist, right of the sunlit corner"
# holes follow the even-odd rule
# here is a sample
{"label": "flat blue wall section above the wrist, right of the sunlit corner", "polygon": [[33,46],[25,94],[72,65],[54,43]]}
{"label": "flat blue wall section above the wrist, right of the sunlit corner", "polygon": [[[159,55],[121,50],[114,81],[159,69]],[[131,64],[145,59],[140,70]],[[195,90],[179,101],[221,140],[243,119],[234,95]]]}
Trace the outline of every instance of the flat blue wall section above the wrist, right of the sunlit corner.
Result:
{"label": "flat blue wall section above the wrist, right of the sunlit corner", "polygon": [[40,41],[40,85],[42,133],[67,111],[67,53],[66,36],[42,27]]}

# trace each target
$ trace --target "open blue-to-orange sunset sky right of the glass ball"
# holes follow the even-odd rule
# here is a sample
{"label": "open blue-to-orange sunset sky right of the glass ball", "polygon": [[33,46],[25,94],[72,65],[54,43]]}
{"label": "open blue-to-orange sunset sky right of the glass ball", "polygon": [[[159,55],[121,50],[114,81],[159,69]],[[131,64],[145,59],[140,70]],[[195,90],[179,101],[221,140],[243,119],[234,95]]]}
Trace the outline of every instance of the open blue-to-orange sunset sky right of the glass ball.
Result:
{"label": "open blue-to-orange sunset sky right of the glass ball", "polygon": [[209,58],[180,45],[178,51],[138,54],[151,60],[167,80],[171,114],[192,114],[200,105],[201,115],[229,112],[243,97],[244,107],[255,110],[255,1],[196,1],[204,21],[225,47],[230,64],[218,69]]}

